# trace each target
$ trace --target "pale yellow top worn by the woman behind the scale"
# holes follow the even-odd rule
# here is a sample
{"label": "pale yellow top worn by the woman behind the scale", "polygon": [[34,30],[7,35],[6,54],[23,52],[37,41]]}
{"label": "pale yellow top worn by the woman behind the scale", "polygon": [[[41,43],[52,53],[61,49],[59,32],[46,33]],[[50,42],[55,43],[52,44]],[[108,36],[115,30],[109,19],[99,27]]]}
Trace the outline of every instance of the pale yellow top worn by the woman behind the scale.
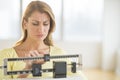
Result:
{"label": "pale yellow top worn by the woman behind the scale", "polygon": [[[50,55],[62,55],[65,52],[55,46],[50,46]],[[2,51],[0,51],[0,66],[3,66],[3,60],[5,58],[18,58],[18,55],[16,54],[16,51],[14,50],[14,48],[8,48],[8,49],[4,49]],[[66,61],[66,59],[55,59],[55,61]],[[42,65],[42,69],[51,69],[53,68],[53,61],[54,59],[45,62],[45,64]],[[69,62],[69,61],[68,61]],[[25,63],[23,61],[11,61],[7,63],[7,71],[19,71],[19,70],[23,70],[25,67]],[[42,77],[53,77],[52,72],[48,72],[48,73],[42,73]],[[81,77],[83,77],[83,80],[86,80],[85,76],[82,74],[82,72],[79,72],[79,74],[81,75]],[[69,73],[69,75],[72,75],[71,73]],[[0,80],[4,79],[12,79],[12,78],[17,78],[18,75],[4,75],[3,69],[0,69]],[[40,76],[41,77],[41,76]],[[27,76],[27,78],[33,78],[32,74],[29,74]],[[38,78],[38,77],[34,77],[34,78]]]}

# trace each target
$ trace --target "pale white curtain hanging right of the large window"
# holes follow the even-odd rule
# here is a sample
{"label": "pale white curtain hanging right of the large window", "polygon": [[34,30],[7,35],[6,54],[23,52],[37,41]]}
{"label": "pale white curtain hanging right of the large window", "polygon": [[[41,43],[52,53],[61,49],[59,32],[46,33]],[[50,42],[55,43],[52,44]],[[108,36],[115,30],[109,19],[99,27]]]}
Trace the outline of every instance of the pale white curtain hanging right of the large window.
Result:
{"label": "pale white curtain hanging right of the large window", "polygon": [[120,0],[104,1],[102,68],[114,70],[120,46]]}

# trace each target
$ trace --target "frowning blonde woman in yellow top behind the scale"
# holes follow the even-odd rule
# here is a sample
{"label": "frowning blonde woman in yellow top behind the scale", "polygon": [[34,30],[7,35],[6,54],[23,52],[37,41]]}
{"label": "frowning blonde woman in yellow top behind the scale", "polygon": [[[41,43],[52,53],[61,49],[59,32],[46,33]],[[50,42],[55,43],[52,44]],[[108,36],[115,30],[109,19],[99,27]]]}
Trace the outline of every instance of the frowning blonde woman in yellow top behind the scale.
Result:
{"label": "frowning blonde woman in yellow top behind the scale", "polygon": [[[55,18],[50,6],[42,1],[32,1],[27,6],[22,18],[23,36],[14,47],[0,52],[0,66],[3,65],[4,58],[63,54],[63,50],[53,45],[52,33],[54,29]],[[8,62],[7,67],[8,71],[30,70],[33,63],[42,64],[45,69],[52,68],[52,63],[44,62],[44,60],[13,61]],[[32,74],[5,76],[0,70],[0,79],[32,77]]]}

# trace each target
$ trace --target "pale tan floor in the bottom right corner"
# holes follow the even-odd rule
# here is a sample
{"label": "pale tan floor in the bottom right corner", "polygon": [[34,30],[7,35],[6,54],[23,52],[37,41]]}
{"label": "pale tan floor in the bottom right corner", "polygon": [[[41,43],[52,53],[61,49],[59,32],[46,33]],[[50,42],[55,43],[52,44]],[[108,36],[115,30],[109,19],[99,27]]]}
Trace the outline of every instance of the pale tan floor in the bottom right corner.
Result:
{"label": "pale tan floor in the bottom right corner", "polygon": [[100,69],[83,70],[88,80],[120,80],[120,75],[115,75],[114,72],[103,71]]}

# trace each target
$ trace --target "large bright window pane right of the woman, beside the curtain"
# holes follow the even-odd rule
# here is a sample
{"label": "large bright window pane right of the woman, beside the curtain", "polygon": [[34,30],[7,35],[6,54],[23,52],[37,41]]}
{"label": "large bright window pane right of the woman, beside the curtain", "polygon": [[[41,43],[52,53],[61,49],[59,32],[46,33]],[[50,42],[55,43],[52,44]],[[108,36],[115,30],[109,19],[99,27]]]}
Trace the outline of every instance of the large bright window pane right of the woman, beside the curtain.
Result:
{"label": "large bright window pane right of the woman, beside the curtain", "polygon": [[103,0],[63,0],[64,40],[101,40]]}

